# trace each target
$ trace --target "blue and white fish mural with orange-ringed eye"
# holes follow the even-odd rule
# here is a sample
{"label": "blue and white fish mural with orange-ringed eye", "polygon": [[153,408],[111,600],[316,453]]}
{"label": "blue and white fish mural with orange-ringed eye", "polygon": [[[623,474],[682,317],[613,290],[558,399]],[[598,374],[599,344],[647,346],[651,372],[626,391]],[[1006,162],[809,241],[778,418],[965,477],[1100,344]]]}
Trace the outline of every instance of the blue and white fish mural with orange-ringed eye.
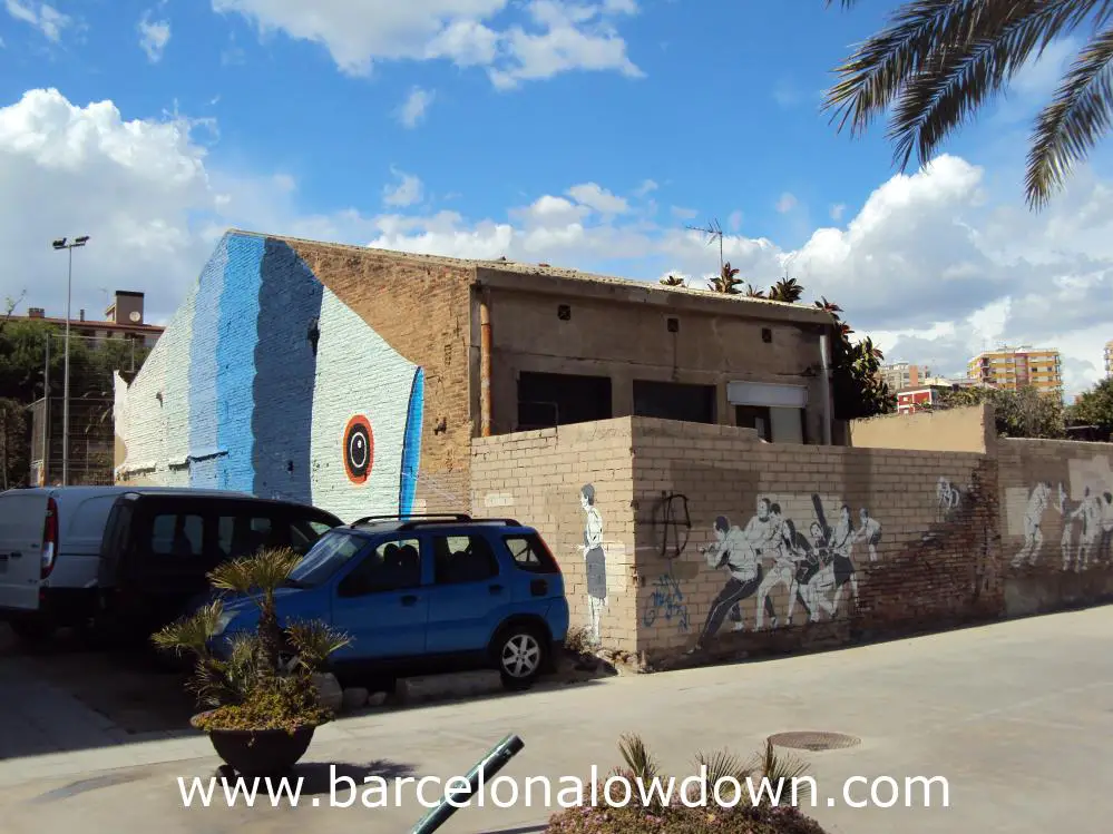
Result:
{"label": "blue and white fish mural with orange-ringed eye", "polygon": [[116,383],[123,480],[413,511],[424,376],[283,241],[230,233]]}

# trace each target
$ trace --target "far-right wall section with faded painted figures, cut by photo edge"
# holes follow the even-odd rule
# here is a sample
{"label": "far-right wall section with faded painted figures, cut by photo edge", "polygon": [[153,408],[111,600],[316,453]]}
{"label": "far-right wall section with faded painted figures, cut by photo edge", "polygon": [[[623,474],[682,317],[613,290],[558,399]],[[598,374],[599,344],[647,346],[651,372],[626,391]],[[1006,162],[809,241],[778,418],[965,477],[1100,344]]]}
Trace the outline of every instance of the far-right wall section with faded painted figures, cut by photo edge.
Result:
{"label": "far-right wall section with faded painted figures, cut by photo edge", "polygon": [[1000,439],[1005,612],[1113,599],[1113,448]]}

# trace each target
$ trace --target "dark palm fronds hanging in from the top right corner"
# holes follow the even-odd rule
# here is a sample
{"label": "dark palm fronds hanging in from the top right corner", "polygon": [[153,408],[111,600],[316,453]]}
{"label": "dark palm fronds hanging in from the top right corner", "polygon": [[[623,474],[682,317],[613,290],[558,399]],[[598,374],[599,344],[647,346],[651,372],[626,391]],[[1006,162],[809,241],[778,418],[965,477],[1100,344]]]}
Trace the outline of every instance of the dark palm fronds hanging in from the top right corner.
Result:
{"label": "dark palm fronds hanging in from the top right corner", "polygon": [[[838,0],[843,9],[858,1]],[[1035,122],[1025,190],[1041,208],[1113,121],[1111,19],[1110,0],[907,0],[836,69],[824,107],[851,135],[890,115],[895,160],[906,168],[915,154],[924,164],[1051,42],[1085,30]]]}

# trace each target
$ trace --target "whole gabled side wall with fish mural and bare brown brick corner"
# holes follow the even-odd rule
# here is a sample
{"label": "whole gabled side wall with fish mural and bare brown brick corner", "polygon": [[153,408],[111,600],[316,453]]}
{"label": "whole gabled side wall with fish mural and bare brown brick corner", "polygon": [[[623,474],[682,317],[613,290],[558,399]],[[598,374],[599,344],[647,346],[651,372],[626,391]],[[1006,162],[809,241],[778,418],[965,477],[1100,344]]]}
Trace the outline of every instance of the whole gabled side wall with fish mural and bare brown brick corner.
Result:
{"label": "whole gabled side wall with fish mural and bare brown brick corner", "polygon": [[471,275],[244,233],[116,386],[121,482],[233,489],[344,520],[458,510]]}

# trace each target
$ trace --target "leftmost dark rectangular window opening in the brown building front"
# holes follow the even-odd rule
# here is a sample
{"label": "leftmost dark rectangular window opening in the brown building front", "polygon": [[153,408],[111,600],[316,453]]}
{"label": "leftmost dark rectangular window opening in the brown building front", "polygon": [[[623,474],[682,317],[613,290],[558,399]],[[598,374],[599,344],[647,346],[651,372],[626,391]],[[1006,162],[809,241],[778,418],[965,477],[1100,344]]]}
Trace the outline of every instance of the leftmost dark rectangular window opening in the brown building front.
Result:
{"label": "leftmost dark rectangular window opening in the brown building front", "polygon": [[518,377],[518,431],[612,416],[609,376],[523,373]]}

